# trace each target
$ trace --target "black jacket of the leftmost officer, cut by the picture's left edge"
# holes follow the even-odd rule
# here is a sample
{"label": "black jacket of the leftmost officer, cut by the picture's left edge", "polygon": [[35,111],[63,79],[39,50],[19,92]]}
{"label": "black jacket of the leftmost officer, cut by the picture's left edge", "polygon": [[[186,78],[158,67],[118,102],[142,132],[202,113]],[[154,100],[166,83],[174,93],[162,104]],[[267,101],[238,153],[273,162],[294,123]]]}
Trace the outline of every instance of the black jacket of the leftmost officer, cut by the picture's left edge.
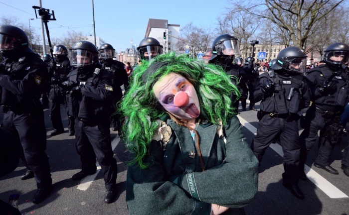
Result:
{"label": "black jacket of the leftmost officer, cut by the picture's left edge", "polygon": [[24,53],[0,64],[0,104],[17,114],[42,114],[39,101],[47,65],[35,54]]}

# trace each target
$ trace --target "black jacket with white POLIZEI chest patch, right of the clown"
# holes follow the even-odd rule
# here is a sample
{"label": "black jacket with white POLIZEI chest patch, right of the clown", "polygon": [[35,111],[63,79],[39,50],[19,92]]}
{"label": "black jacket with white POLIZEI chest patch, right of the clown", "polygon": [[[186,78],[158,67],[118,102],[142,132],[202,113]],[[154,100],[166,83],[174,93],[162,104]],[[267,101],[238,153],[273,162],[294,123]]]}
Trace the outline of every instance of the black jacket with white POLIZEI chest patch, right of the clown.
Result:
{"label": "black jacket with white POLIZEI chest patch, right of the clown", "polygon": [[[267,113],[288,114],[297,113],[310,104],[311,93],[308,83],[302,74],[288,75],[284,70],[263,73],[257,80],[253,93],[253,102],[260,103],[260,110]],[[263,93],[267,80],[275,83],[273,90]]]}

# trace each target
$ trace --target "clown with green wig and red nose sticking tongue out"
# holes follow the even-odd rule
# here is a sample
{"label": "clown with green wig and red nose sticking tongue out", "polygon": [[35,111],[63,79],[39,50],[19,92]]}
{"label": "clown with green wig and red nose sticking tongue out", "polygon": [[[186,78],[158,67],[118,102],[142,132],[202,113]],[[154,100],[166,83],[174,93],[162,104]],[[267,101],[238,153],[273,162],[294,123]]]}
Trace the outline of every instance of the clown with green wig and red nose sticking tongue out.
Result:
{"label": "clown with green wig and red nose sticking tongue out", "polygon": [[130,215],[244,214],[258,190],[258,161],[231,108],[222,68],[174,53],[145,61],[121,108],[132,152]]}

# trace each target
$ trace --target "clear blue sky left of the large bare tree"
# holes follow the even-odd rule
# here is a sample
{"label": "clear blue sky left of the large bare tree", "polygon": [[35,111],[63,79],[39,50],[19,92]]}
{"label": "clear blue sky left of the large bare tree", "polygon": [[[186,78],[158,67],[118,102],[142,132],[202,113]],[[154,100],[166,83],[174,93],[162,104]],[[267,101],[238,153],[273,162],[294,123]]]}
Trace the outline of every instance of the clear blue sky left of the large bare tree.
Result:
{"label": "clear blue sky left of the large bare tree", "polygon": [[[214,27],[231,0],[93,0],[96,36],[110,43],[117,52],[136,46],[145,37],[150,18],[167,19],[180,28],[192,22]],[[0,18],[15,17],[41,36],[41,22],[33,5],[40,0],[0,0]],[[41,0],[41,6],[54,10],[56,21],[48,22],[50,37],[63,37],[68,31],[93,36],[92,0]],[[46,37],[46,34],[45,34]],[[47,38],[46,38],[47,40]],[[46,45],[48,45],[46,43]]]}

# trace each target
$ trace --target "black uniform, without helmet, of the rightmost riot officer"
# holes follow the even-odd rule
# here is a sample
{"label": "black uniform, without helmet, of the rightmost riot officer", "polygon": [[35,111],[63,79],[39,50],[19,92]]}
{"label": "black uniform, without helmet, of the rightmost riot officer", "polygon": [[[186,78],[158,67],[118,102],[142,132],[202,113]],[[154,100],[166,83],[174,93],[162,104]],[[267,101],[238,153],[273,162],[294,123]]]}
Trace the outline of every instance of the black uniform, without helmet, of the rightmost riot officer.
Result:
{"label": "black uniform, without helmet, of the rightmost riot officer", "polygon": [[[329,166],[332,149],[341,141],[342,126],[338,123],[344,107],[349,102],[349,83],[345,80],[345,71],[342,71],[341,68],[334,71],[326,64],[309,70],[306,77],[310,82],[313,103],[307,110],[305,128],[300,135],[301,143],[304,146],[301,168],[304,168],[307,154],[314,145],[319,130],[321,130],[320,148],[315,164],[323,167]],[[324,89],[325,82],[332,82],[332,87],[328,87],[332,89]]]}

